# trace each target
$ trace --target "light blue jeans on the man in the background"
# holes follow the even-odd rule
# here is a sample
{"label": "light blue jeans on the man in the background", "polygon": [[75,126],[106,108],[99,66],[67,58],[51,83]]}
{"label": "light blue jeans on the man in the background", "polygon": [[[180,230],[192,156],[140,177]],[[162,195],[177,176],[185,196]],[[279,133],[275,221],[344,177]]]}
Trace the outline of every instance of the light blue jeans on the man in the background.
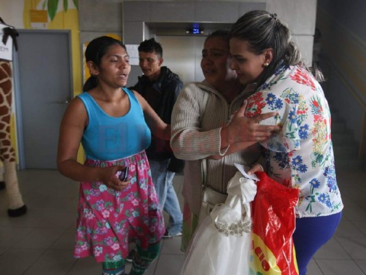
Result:
{"label": "light blue jeans on the man in the background", "polygon": [[182,232],[183,217],[173,186],[175,173],[168,171],[169,162],[170,159],[161,161],[149,159],[152,182],[157,190],[160,206],[170,216],[167,230],[174,236]]}

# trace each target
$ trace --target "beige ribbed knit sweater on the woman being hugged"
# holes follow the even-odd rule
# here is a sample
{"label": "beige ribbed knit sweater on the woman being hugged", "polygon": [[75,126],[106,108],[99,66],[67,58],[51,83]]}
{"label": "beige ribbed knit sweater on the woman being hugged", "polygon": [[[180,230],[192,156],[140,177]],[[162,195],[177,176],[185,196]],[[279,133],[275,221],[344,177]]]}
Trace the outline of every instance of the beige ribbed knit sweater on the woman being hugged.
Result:
{"label": "beige ribbed knit sweater on the woman being hugged", "polygon": [[[203,195],[201,159],[225,154],[220,150],[221,127],[253,92],[253,85],[247,86],[229,104],[207,83],[190,83],[183,87],[174,104],[170,145],[177,158],[186,159],[183,197],[194,214],[199,213]],[[205,93],[208,93],[208,98],[206,107],[203,107]],[[258,162],[260,150],[260,145],[256,144],[218,160],[207,159],[207,186],[226,193],[229,179],[237,171],[233,164],[250,166]]]}

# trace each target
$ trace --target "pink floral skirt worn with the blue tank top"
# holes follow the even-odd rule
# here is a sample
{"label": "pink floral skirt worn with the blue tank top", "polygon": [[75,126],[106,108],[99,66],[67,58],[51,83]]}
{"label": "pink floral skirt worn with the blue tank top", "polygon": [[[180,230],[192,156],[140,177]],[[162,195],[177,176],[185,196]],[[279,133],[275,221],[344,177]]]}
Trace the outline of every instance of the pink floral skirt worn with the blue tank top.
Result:
{"label": "pink floral skirt worn with the blue tank top", "polygon": [[80,183],[74,256],[119,261],[128,255],[130,242],[142,249],[159,242],[165,227],[145,151],[113,161],[87,159],[85,164],[128,166],[130,185],[116,191],[100,181]]}

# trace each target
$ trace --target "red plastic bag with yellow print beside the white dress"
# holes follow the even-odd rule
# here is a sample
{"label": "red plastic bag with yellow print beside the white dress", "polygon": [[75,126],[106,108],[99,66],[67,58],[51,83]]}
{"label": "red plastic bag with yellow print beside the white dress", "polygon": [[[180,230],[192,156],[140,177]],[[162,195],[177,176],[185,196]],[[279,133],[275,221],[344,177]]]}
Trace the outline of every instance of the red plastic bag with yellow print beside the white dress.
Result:
{"label": "red plastic bag with yellow print beside the white dress", "polygon": [[287,188],[259,172],[252,202],[251,275],[298,275],[293,232],[299,189]]}

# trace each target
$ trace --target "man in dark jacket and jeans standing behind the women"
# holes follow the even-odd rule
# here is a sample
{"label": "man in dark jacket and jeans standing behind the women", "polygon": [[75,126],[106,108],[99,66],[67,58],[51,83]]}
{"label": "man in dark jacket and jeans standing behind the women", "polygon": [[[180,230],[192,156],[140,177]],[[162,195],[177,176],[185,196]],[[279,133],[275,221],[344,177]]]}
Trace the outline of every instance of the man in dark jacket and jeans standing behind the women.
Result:
{"label": "man in dark jacket and jeans standing behind the women", "polygon": [[[130,89],[138,91],[159,117],[170,124],[172,109],[183,83],[168,67],[161,67],[163,49],[155,39],[141,42],[138,50],[139,66],[143,75],[139,76],[137,84]],[[153,135],[146,155],[161,208],[170,216],[163,237],[181,236],[182,212],[172,184],[175,173],[183,171],[184,161],[174,157],[169,141],[160,140]]]}

